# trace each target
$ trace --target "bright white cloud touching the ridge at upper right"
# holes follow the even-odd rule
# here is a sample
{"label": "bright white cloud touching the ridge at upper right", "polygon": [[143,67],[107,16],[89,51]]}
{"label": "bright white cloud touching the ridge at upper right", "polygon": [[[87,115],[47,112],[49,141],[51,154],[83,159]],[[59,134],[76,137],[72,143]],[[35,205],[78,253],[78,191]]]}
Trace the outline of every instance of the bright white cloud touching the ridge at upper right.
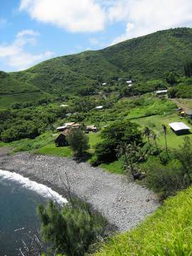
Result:
{"label": "bright white cloud touching the ridge at upper right", "polygon": [[118,43],[167,28],[192,26],[192,1],[117,0],[108,9],[108,17],[111,22],[127,23],[124,34],[113,41]]}

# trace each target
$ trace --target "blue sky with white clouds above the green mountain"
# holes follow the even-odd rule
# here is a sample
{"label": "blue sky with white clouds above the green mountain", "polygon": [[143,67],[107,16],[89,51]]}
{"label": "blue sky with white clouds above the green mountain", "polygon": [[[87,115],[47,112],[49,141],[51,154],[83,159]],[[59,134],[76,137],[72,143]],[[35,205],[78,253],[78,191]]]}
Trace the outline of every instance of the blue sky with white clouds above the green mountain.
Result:
{"label": "blue sky with white clouds above the green mountain", "polygon": [[0,0],[0,70],[192,27],[192,0]]}

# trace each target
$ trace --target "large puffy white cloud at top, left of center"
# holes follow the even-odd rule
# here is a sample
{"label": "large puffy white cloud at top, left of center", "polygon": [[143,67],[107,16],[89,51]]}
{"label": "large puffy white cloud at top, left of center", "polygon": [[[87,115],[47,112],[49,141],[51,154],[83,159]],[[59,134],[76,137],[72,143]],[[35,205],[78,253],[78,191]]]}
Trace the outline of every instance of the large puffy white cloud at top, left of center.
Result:
{"label": "large puffy white cloud at top, left of center", "polygon": [[19,9],[31,18],[72,32],[105,28],[105,12],[96,0],[21,0]]}

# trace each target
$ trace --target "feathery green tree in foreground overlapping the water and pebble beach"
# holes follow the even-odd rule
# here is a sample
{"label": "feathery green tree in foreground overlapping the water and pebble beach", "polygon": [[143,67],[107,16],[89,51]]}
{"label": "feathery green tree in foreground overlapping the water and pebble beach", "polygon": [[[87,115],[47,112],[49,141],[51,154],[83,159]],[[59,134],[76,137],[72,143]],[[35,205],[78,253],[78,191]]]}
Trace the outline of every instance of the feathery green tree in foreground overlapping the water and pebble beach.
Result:
{"label": "feathery green tree in foreground overlapping the water and pebble beach", "polygon": [[38,217],[43,240],[52,245],[55,255],[85,255],[91,243],[103,235],[107,224],[102,216],[92,213],[90,206],[80,201],[63,208],[50,201],[46,206],[38,206]]}

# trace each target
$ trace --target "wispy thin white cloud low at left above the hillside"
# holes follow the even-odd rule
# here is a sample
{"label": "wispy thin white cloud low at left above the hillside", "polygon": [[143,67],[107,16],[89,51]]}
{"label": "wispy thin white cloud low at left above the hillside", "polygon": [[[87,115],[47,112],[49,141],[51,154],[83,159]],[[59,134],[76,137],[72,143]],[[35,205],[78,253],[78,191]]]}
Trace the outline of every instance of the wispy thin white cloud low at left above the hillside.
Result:
{"label": "wispy thin white cloud low at left above the hillside", "polygon": [[16,38],[11,44],[0,44],[0,60],[14,70],[24,70],[41,60],[50,58],[53,53],[31,54],[25,50],[25,46],[31,46],[36,43],[39,34],[32,30],[23,30],[16,34]]}

